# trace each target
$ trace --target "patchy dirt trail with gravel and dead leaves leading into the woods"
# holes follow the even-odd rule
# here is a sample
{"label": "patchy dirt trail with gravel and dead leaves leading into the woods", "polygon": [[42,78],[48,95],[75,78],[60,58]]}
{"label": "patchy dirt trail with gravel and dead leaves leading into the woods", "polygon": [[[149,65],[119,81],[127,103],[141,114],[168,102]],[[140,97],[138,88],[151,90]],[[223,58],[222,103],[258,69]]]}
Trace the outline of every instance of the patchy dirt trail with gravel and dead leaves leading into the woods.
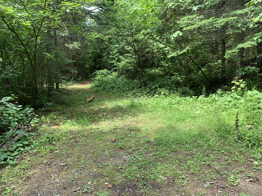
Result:
{"label": "patchy dirt trail with gravel and dead leaves leading into the woods", "polygon": [[[197,175],[192,175],[188,169],[170,163],[179,160],[179,163],[185,163],[186,167],[188,157],[192,156],[187,152],[174,153],[173,160],[172,157],[168,159],[157,157],[159,152],[152,150],[154,141],[149,138],[150,135],[142,132],[140,127],[135,126],[138,125],[136,116],[132,116],[131,112],[125,109],[126,104],[112,107],[98,106],[108,99],[99,94],[94,95],[94,92],[91,93],[89,85],[88,80],[69,87],[65,98],[69,106],[64,106],[65,110],[60,108],[49,112],[49,118],[54,122],[46,122],[42,125],[40,139],[54,135],[55,145],[46,143],[35,152],[21,156],[17,166],[8,170],[2,168],[1,172],[9,175],[6,179],[9,195],[222,196],[224,194],[235,196],[242,192],[248,192],[251,196],[262,195],[262,184],[259,181],[262,179],[261,172],[257,172],[248,181],[243,177],[237,186],[229,186],[230,172],[235,169],[240,171],[235,175],[251,174],[253,172],[251,162],[244,164],[230,162],[233,168],[226,166],[224,170],[227,170],[228,176],[223,177],[221,173],[219,174],[219,168],[213,166],[213,163],[203,165],[199,171],[201,173]],[[91,95],[99,99],[94,99],[89,104],[85,103],[83,97],[89,98]],[[123,116],[129,117],[124,120]],[[121,126],[114,127],[116,118],[120,119],[118,123],[122,124]],[[52,126],[56,120],[57,123]],[[82,125],[81,122],[84,124]],[[111,124],[112,128],[100,126],[101,122]],[[145,142],[145,145],[134,148],[141,142]],[[144,152],[145,149],[141,150],[145,146],[148,147],[148,152]],[[156,154],[156,157],[153,154]],[[143,161],[147,161],[148,165],[141,164]],[[223,165],[228,164],[222,158],[215,161]],[[160,174],[152,170],[154,164],[158,164],[157,167],[162,167],[163,170],[175,168],[174,174],[180,170],[182,172],[176,176],[165,177],[164,172]],[[147,170],[148,174],[144,174],[144,170]],[[208,175],[208,172],[213,175],[210,181],[212,184],[208,184],[207,178],[203,176]]]}

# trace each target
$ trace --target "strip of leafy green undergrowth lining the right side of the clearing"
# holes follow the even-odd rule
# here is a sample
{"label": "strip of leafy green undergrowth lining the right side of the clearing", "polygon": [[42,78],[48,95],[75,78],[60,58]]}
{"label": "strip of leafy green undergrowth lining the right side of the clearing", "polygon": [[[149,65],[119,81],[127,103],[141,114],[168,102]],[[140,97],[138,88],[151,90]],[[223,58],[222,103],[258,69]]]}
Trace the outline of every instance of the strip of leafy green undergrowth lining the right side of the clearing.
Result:
{"label": "strip of leafy green undergrowth lining the right side of the clearing", "polygon": [[[262,155],[262,93],[257,91],[255,87],[248,90],[247,82],[235,78],[232,82],[232,91],[218,90],[214,94],[208,95],[205,88],[201,96],[192,96],[194,93],[185,89],[168,90],[161,88],[164,81],[156,79],[155,82],[148,84],[146,87],[139,85],[138,81],[125,79],[125,76],[119,73],[100,70],[97,71],[93,80],[95,90],[104,90],[107,92],[124,93],[130,97],[148,97],[150,104],[162,106],[165,112],[162,120],[170,124],[172,119],[177,121],[191,121],[196,116],[206,116],[206,123],[210,123],[212,129],[220,138],[226,138],[237,142],[243,148],[253,149],[252,157],[260,159]],[[164,98],[159,101],[159,98]],[[186,116],[176,116],[183,109],[188,110]],[[197,111],[190,115],[190,110]],[[240,129],[234,126],[234,116],[239,112]],[[231,121],[229,121],[230,119]],[[172,124],[172,123],[171,123]],[[170,125],[171,125],[170,124]],[[201,127],[197,127],[202,129]],[[206,128],[206,127],[205,127]],[[169,137],[169,136],[166,136]],[[186,139],[188,140],[188,138]],[[181,138],[179,139],[181,142]],[[188,143],[188,141],[187,141]]]}

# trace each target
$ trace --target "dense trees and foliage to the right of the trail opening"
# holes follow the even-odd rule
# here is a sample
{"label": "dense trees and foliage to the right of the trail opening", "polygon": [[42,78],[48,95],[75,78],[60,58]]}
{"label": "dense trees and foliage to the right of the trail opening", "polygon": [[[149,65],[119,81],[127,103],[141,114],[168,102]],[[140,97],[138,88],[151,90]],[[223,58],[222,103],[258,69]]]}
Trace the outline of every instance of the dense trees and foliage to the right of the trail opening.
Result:
{"label": "dense trees and foliage to the right of the trail opening", "polygon": [[110,35],[101,63],[140,87],[155,83],[199,95],[203,86],[229,90],[236,76],[249,89],[261,87],[260,1],[105,1],[99,7],[96,22]]}

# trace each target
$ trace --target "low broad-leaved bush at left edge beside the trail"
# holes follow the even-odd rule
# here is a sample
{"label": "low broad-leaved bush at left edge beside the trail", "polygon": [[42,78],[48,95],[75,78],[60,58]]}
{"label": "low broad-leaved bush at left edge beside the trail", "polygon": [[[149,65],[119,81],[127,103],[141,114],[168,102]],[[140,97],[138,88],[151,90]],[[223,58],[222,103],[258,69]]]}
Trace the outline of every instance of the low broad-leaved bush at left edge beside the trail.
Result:
{"label": "low broad-leaved bush at left edge beside the trail", "polygon": [[[30,108],[30,106],[23,108],[21,105],[17,105],[17,102],[15,102],[12,97],[4,97],[0,100],[0,111],[0,129],[3,130],[0,136],[0,143],[8,139],[13,132],[13,136],[26,132],[30,119],[31,123],[38,121],[37,118],[33,118],[33,108]],[[15,157],[24,150],[31,149],[30,147],[26,147],[28,144],[27,136],[35,134],[36,133],[31,132],[24,133],[22,137],[17,138],[15,141],[5,142],[5,144],[8,144],[8,148],[0,149],[0,164],[17,163]]]}

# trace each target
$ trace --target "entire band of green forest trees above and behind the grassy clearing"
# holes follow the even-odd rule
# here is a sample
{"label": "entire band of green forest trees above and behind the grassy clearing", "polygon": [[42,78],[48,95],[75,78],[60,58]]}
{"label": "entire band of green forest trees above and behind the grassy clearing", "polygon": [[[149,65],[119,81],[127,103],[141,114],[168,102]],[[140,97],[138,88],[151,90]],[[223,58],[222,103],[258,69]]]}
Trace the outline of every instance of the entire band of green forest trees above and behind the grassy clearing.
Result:
{"label": "entire band of green forest trees above and behind the grassy clearing", "polygon": [[261,0],[5,0],[0,15],[0,96],[22,106],[81,77],[124,93],[261,88]]}

